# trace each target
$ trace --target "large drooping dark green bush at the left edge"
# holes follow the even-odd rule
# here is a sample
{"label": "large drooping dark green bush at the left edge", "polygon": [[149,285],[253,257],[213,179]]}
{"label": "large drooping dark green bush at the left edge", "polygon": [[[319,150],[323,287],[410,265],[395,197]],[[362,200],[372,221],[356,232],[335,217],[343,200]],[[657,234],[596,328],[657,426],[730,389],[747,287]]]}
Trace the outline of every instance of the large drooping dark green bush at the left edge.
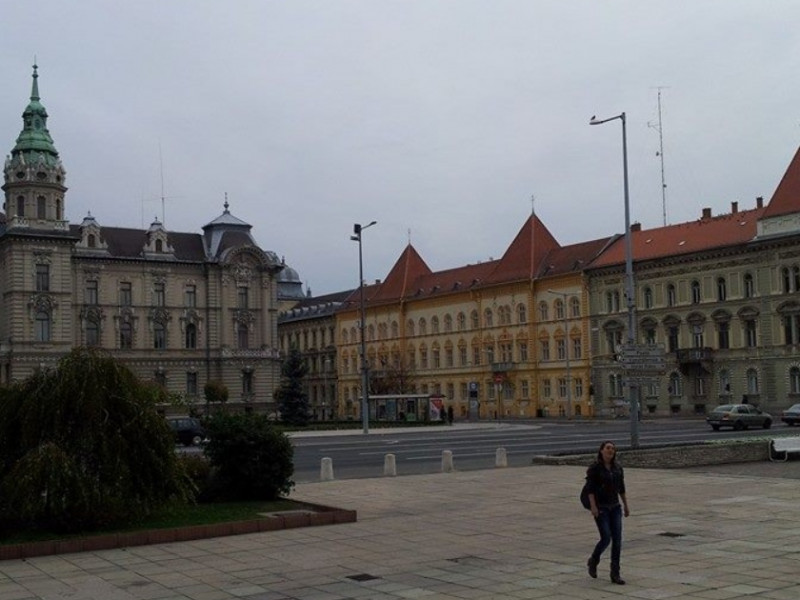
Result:
{"label": "large drooping dark green bush at the left edge", "polygon": [[0,519],[82,531],[190,500],[162,394],[86,348],[0,389]]}

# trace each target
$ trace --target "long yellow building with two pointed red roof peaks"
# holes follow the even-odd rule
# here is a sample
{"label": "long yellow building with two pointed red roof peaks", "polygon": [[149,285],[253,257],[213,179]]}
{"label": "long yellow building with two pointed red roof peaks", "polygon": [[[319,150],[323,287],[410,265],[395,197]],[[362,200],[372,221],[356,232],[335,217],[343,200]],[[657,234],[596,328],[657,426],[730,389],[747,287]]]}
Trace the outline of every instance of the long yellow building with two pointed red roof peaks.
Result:
{"label": "long yellow building with two pointed red roof peaks", "polygon": [[[370,395],[430,395],[456,418],[590,415],[583,271],[608,242],[562,247],[532,215],[502,258],[437,272],[409,244],[364,288]],[[342,418],[361,416],[359,316],[355,290],[337,312]]]}

